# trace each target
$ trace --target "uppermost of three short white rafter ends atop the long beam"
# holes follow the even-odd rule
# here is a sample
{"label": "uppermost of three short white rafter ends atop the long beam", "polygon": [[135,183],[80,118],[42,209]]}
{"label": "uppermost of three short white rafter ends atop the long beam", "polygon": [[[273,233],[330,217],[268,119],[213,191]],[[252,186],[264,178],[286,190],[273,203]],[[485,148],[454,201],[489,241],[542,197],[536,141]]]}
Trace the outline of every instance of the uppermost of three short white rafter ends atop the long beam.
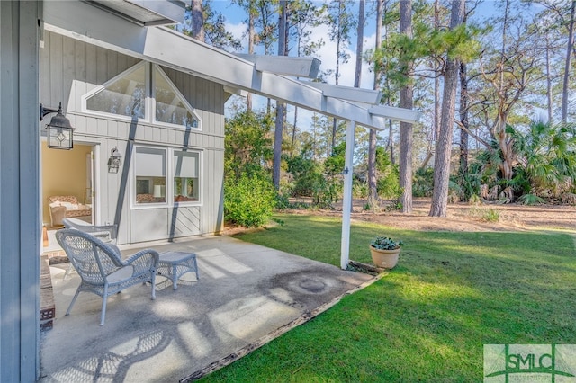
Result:
{"label": "uppermost of three short white rafter ends atop the long beam", "polygon": [[301,58],[292,56],[263,56],[236,53],[256,64],[256,70],[276,75],[316,78],[320,72],[321,61],[318,58]]}

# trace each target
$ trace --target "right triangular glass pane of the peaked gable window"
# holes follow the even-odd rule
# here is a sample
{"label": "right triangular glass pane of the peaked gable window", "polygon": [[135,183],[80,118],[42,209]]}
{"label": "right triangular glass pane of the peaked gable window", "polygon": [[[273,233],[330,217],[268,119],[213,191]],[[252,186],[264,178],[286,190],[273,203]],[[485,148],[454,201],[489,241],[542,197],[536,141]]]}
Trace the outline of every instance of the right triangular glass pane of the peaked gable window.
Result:
{"label": "right triangular glass pane of the peaked gable window", "polygon": [[197,128],[198,120],[188,109],[174,85],[166,80],[157,67],[154,67],[156,120],[188,128]]}

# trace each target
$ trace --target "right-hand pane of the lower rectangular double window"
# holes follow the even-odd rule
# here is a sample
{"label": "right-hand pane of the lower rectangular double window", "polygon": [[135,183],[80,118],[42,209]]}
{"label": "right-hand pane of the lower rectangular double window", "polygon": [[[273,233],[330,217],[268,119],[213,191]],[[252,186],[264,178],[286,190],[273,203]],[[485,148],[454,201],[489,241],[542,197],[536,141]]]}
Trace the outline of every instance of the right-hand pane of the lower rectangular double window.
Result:
{"label": "right-hand pane of the lower rectangular double window", "polygon": [[200,154],[197,152],[174,152],[174,201],[200,200]]}

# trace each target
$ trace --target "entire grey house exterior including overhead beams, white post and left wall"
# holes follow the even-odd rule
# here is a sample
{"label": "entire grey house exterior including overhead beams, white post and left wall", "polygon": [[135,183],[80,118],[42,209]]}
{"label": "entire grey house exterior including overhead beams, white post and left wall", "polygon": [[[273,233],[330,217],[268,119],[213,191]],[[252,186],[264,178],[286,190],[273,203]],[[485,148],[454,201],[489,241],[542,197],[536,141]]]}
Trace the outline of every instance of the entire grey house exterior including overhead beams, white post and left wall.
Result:
{"label": "entire grey house exterior including overhead beams, white post and left wall", "polygon": [[[75,145],[89,147],[94,221],[117,223],[121,244],[220,230],[223,111],[231,93],[347,120],[349,169],[356,124],[385,129],[389,118],[418,118],[375,105],[374,91],[278,75],[302,76],[300,62],[239,58],[157,26],[177,22],[182,11],[175,0],[0,1],[0,381],[40,378],[39,254],[47,203],[40,102],[50,108],[62,102]],[[109,166],[114,153],[122,157],[117,168]],[[67,161],[60,162],[50,171],[67,172]],[[351,190],[348,172],[343,264]]]}

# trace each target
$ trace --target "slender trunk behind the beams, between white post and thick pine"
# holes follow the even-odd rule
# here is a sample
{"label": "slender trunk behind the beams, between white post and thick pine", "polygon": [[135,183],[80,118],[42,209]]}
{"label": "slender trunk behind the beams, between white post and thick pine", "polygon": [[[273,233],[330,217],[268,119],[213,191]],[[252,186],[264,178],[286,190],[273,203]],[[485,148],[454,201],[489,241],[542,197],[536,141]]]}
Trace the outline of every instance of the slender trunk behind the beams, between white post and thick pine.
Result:
{"label": "slender trunk behind the beams, between white post and thick pine", "polygon": [[[376,42],[375,48],[382,45],[382,25],[383,25],[383,5],[384,0],[377,0],[376,4]],[[382,68],[374,64],[374,90],[380,89],[382,78]],[[378,203],[378,182],[376,179],[376,145],[378,143],[378,132],[370,129],[368,140],[368,205],[371,209],[377,208]]]}

